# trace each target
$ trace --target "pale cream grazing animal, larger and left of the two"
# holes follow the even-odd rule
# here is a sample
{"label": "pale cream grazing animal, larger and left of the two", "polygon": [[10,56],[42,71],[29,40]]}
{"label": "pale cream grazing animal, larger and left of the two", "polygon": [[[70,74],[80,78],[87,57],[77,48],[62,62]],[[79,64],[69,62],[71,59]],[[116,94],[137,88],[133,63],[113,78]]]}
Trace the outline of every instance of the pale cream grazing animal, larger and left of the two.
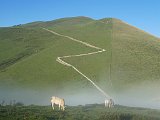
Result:
{"label": "pale cream grazing animal, larger and left of the two", "polygon": [[51,105],[52,105],[53,110],[54,110],[54,104],[59,106],[59,110],[63,110],[64,111],[64,108],[65,108],[64,99],[52,96],[51,97]]}

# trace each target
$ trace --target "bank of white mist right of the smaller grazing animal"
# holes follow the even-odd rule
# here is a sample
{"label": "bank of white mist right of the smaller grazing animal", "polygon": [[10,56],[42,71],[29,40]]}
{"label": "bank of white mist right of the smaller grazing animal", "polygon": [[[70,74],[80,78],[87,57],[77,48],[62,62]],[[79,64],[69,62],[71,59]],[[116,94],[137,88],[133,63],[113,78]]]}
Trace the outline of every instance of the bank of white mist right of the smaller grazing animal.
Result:
{"label": "bank of white mist right of the smaller grazing animal", "polygon": [[114,95],[115,102],[132,107],[160,109],[160,87],[158,83],[143,82]]}

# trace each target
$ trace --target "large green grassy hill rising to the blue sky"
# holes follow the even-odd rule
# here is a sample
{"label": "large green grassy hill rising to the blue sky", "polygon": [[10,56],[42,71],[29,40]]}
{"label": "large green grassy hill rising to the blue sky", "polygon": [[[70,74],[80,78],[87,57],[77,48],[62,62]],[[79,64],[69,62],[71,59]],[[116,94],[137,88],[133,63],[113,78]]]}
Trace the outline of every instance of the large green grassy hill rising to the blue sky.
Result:
{"label": "large green grassy hill rising to the blue sky", "polygon": [[[147,102],[159,99],[160,39],[118,19],[87,17],[0,28],[0,81],[3,83],[0,94],[4,99],[16,99],[18,93],[25,91],[26,96],[43,99],[39,103],[47,103],[51,95],[63,96],[69,102],[70,97],[72,102],[103,102],[104,97],[89,81],[56,61],[59,56],[97,50],[43,28],[105,49],[99,54],[66,58],[65,61],[118,103],[129,104],[126,98],[128,101],[147,99]],[[86,96],[86,101],[76,100]]]}

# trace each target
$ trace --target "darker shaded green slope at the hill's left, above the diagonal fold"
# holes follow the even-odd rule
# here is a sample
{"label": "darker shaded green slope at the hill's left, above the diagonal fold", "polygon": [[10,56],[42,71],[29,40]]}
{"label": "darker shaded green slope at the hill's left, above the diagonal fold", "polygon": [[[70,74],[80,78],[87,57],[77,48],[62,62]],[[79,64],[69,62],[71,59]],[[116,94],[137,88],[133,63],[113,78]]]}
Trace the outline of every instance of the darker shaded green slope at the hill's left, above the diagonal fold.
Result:
{"label": "darker shaded green slope at the hill's left, above the diagonal fold", "polygon": [[54,44],[56,36],[31,28],[0,28],[0,69]]}

